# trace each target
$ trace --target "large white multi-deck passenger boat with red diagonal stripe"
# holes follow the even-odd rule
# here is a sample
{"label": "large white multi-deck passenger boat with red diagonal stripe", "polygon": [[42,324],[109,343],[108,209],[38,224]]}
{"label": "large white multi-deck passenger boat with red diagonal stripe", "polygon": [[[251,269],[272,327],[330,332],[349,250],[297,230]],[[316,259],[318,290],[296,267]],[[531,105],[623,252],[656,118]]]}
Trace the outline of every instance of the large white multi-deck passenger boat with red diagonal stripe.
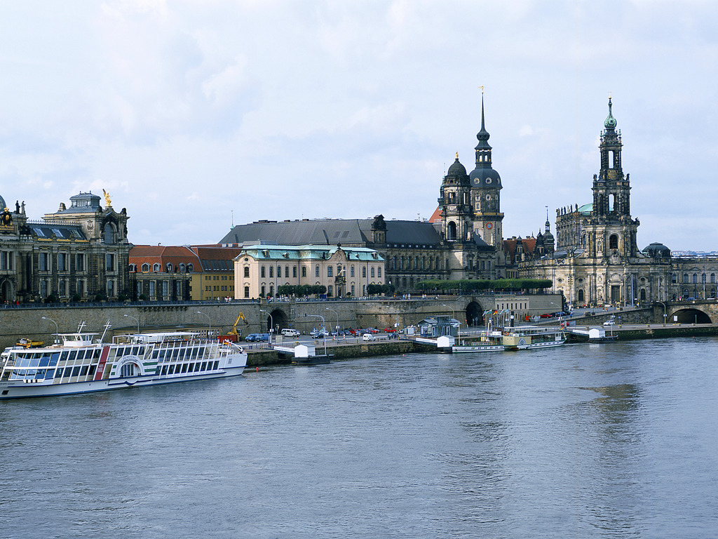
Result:
{"label": "large white multi-deck passenger boat with red diagonal stripe", "polygon": [[0,399],[223,378],[242,374],[247,364],[241,346],[187,331],[121,335],[109,344],[81,328],[60,333],[60,344],[5,349],[0,354]]}

